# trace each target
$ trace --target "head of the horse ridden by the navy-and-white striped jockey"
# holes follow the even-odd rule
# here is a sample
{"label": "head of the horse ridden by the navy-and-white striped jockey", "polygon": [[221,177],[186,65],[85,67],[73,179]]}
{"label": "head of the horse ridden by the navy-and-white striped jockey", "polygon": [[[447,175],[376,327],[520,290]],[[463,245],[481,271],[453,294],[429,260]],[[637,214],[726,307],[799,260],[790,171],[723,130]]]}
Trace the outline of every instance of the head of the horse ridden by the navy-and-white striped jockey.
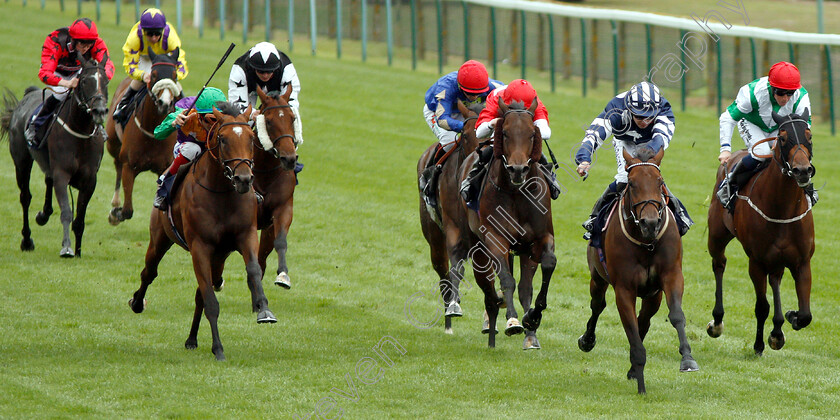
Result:
{"label": "head of the horse ridden by the navy-and-white striped jockey", "polygon": [[630,215],[624,215],[625,219],[632,218],[642,233],[642,240],[652,242],[659,231],[665,226],[662,223],[662,215],[665,211],[665,196],[663,187],[665,181],[659,172],[659,164],[665,155],[662,149],[656,155],[653,150],[641,147],[636,156],[631,156],[624,149],[624,161],[627,162],[627,188],[625,189],[624,202],[628,207]]}

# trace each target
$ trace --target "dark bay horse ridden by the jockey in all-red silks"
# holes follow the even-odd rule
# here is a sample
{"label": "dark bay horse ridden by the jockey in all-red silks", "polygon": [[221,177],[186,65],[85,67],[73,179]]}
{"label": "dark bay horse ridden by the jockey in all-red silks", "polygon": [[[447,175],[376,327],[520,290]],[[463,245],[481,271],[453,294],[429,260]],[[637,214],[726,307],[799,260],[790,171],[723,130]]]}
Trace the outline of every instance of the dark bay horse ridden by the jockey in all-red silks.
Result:
{"label": "dark bay horse ridden by the jockey in all-red silks", "polygon": [[[467,211],[466,203],[461,201],[468,216],[469,234],[476,243],[469,256],[476,283],[484,292],[487,344],[491,348],[496,345],[496,317],[500,307],[494,277],[499,276],[503,304],[507,308],[505,334],[524,332],[522,348],[539,349],[536,331],[547,305],[548,286],[557,264],[551,198],[539,164],[542,137],[534,125],[536,107],[536,98],[528,109],[521,102],[508,106],[499,98],[502,119],[496,124],[493,160],[482,181],[478,213]],[[477,154],[473,153],[461,165],[461,182],[476,158]],[[521,324],[513,305],[516,281],[511,269],[512,254],[519,255],[519,303],[525,312]],[[538,266],[542,268],[542,286],[532,308],[532,281]]]}

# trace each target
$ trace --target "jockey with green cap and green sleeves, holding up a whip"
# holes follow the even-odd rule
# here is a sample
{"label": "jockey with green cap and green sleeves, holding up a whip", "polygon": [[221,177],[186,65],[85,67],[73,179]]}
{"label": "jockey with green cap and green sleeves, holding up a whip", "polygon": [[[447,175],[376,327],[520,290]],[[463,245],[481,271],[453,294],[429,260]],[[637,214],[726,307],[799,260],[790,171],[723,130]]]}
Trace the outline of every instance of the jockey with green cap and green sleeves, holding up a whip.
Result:
{"label": "jockey with green cap and green sleeves, holding up a whip", "polygon": [[[163,122],[155,128],[155,138],[163,140],[169,137],[173,131],[178,130],[178,142],[172,153],[175,160],[169,169],[158,179],[158,190],[155,196],[155,208],[166,211],[166,197],[175,181],[175,174],[181,165],[192,162],[203,150],[206,141],[207,131],[213,126],[213,107],[218,102],[227,102],[225,94],[221,90],[208,87],[196,100],[195,96],[189,96],[175,104],[175,111],[171,112]],[[195,112],[185,115],[185,111],[195,104]],[[189,127],[189,128],[188,128]]]}

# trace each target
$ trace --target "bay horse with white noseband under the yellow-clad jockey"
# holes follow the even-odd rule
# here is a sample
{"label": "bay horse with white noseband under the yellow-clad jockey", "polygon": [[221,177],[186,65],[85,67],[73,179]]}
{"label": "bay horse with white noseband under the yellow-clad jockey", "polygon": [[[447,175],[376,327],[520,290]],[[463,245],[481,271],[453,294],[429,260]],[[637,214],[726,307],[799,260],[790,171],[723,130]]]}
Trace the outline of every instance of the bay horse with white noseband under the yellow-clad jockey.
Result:
{"label": "bay horse with white noseband under the yellow-clad jockey", "polygon": [[[114,99],[108,112],[105,132],[108,134],[106,147],[114,158],[117,170],[117,180],[114,186],[114,197],[111,199],[111,212],[108,222],[118,225],[134,215],[134,179],[144,171],[162,174],[174,158],[172,149],[175,146],[176,133],[172,133],[165,140],[155,139],[155,127],[175,110],[175,102],[181,98],[181,86],[178,84],[178,54],[179,49],[169,54],[155,54],[149,48],[149,58],[152,68],[149,71],[151,80],[147,92],[137,107],[128,116],[125,127],[114,121],[114,109],[119,105],[123,94],[128,90],[131,78],[117,87]],[[120,186],[124,189],[125,204],[120,206]]]}

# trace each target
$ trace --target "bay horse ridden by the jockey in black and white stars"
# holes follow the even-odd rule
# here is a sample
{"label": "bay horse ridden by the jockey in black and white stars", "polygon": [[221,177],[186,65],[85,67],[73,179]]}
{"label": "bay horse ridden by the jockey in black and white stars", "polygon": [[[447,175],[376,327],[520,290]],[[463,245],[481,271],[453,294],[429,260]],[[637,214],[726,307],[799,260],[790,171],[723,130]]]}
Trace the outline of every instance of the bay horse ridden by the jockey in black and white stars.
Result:
{"label": "bay horse ridden by the jockey in black and white stars", "polygon": [[257,94],[262,115],[262,118],[257,117],[257,136],[262,147],[254,152],[254,190],[263,196],[257,226],[261,230],[258,259],[265,273],[266,259],[272,250],[276,250],[277,277],[274,284],[288,289],[291,279],[286,264],[286,236],[292,225],[296,184],[294,169],[297,163],[297,140],[293,126],[295,114],[289,105],[292,86],[289,85],[283,94],[265,93],[257,86]]}

